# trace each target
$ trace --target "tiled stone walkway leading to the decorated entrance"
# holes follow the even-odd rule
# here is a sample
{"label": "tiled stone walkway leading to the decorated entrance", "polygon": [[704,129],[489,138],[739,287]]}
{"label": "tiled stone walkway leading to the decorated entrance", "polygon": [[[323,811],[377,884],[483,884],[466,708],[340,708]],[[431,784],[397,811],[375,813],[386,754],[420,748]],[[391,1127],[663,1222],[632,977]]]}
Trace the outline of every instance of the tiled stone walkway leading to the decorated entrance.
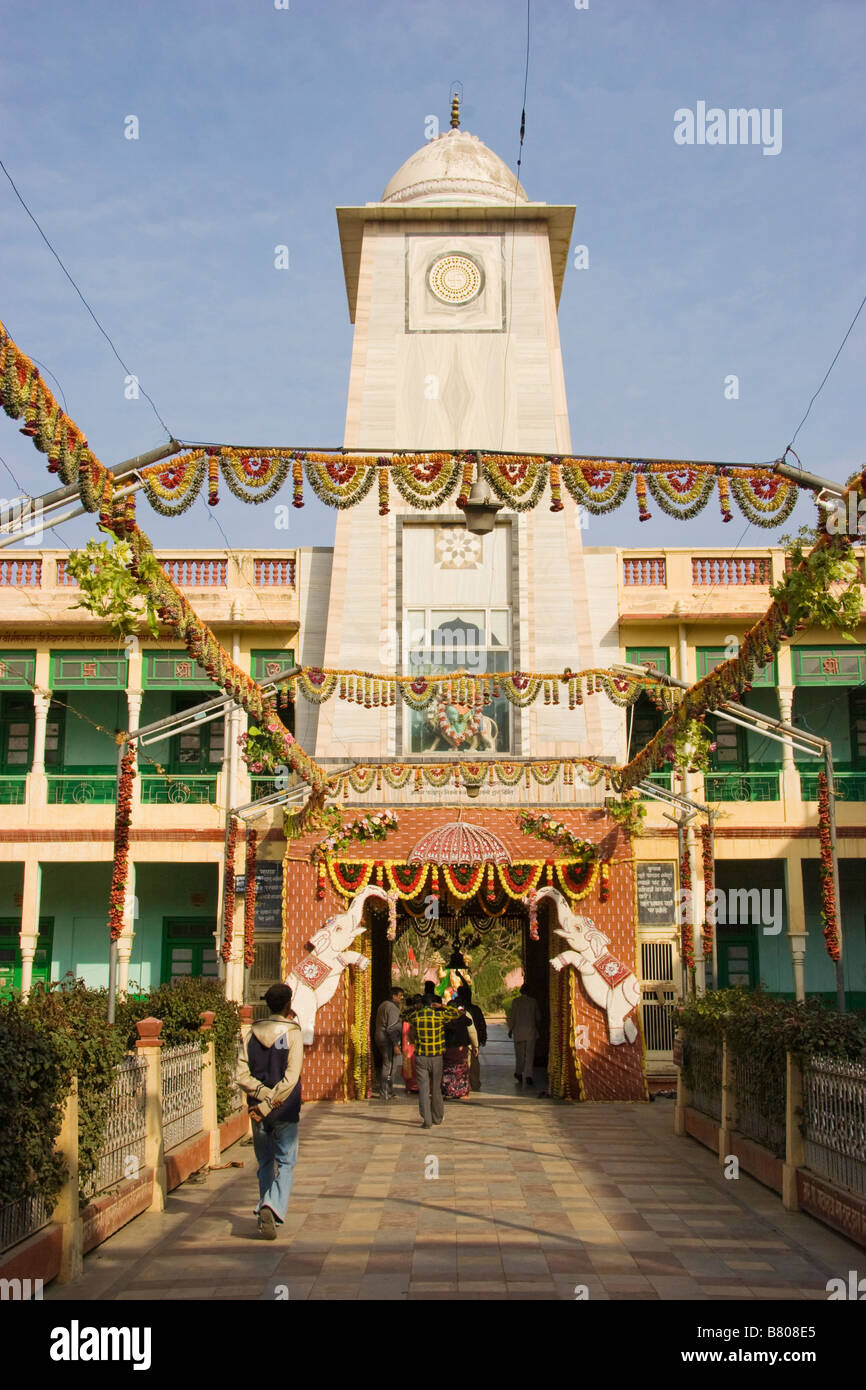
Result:
{"label": "tiled stone walkway leading to the decorated entrance", "polygon": [[[862,1251],[673,1136],[673,1101],[520,1091],[505,1029],[485,1090],[421,1130],[414,1099],[307,1105],[285,1227],[256,1238],[242,1170],[185,1184],[46,1298],[816,1298]],[[438,1168],[438,1177],[434,1176]]]}

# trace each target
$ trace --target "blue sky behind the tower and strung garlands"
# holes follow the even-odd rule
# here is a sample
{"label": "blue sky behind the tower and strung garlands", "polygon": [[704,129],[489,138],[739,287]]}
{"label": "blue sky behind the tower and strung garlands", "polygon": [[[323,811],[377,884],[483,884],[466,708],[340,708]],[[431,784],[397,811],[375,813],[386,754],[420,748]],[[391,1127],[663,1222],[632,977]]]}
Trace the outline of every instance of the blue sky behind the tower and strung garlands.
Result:
{"label": "blue sky behind the tower and strung garlands", "polygon": [[[762,0],[532,0],[521,179],[575,203],[560,332],[575,452],[756,461],[780,455],[866,293],[866,7]],[[349,324],[334,208],[375,200],[446,125],[513,168],[525,3],[42,0],[3,7],[1,157],[121,357],[181,439],[336,446]],[[781,108],[783,147],[680,146],[674,111]],[[124,138],[136,115],[140,138]],[[274,270],[274,246],[291,268]],[[106,463],[164,439],[0,177],[0,318],[60,382]],[[866,311],[803,427],[812,471],[863,461]],[[740,378],[740,399],[724,378]],[[54,388],[54,381],[49,375]],[[47,491],[44,460],[0,420],[0,455]],[[0,467],[0,493],[14,485]],[[284,499],[288,500],[288,499]],[[812,507],[802,502],[796,521]],[[232,545],[329,545],[309,500],[224,499]],[[160,545],[224,543],[204,502],[146,505]],[[792,524],[788,524],[788,530]],[[689,525],[627,503],[587,545],[734,545],[717,506]],[[71,543],[93,524],[63,528]],[[734,534],[731,534],[734,532]],[[746,543],[773,532],[751,530]],[[46,538],[53,543],[53,538]]]}

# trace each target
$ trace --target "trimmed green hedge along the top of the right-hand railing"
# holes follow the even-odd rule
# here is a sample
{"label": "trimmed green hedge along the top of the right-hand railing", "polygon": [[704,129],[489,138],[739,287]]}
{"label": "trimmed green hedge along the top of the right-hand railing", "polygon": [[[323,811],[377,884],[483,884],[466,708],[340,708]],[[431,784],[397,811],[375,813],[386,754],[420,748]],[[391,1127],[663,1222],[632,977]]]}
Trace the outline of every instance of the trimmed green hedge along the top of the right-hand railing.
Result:
{"label": "trimmed green hedge along the top of the right-hand railing", "polygon": [[696,1036],[720,1038],[724,1033],[735,1056],[766,1058],[767,1063],[784,1059],[785,1052],[866,1059],[863,1013],[837,1013],[820,998],[798,1004],[762,990],[709,990],[683,1004],[676,1017]]}

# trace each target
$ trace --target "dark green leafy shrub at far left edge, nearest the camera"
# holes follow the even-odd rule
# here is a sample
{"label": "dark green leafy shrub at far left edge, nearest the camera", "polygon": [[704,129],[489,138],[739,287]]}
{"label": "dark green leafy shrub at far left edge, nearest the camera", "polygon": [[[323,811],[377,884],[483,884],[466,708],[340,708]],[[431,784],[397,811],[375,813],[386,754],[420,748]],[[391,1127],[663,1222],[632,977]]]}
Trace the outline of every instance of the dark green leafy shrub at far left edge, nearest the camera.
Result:
{"label": "dark green leafy shrub at far left edge, nearest the camera", "polygon": [[71,1073],[19,998],[0,1002],[0,1204],[57,1197],[65,1165],[54,1152]]}

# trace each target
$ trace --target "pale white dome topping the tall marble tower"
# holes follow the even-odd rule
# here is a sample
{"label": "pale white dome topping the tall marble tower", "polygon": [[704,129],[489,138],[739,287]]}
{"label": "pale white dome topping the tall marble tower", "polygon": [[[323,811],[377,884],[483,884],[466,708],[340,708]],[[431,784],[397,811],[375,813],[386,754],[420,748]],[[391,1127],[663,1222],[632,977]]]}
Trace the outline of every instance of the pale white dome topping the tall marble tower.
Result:
{"label": "pale white dome topping the tall marble tower", "polygon": [[382,203],[528,203],[498,154],[477,135],[452,129],[428,140],[396,171]]}

